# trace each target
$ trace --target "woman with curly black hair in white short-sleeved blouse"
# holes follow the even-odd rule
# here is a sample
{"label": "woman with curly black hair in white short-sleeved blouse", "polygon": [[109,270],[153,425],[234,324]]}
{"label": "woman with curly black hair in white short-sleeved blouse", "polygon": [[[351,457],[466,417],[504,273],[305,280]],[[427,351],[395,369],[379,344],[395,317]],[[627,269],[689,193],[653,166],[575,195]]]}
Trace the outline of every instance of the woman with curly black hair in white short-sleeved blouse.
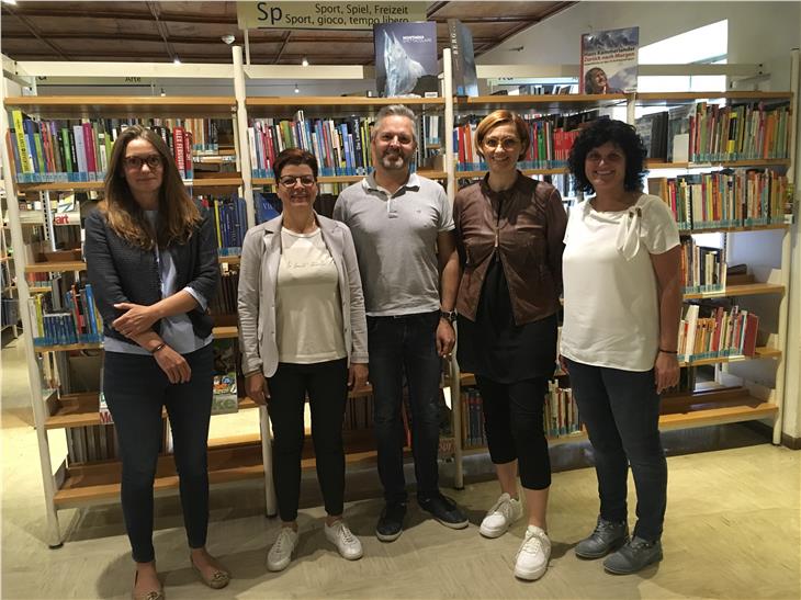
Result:
{"label": "woman with curly black hair in white short-sleeved blouse", "polygon": [[[595,196],[571,211],[563,257],[563,366],[596,462],[600,514],[582,558],[636,573],[662,559],[667,463],[659,393],[676,385],[680,242],[667,205],[642,192],[646,150],[634,127],[599,120],[576,139],[569,168]],[[629,465],[638,521],[629,537]]]}

